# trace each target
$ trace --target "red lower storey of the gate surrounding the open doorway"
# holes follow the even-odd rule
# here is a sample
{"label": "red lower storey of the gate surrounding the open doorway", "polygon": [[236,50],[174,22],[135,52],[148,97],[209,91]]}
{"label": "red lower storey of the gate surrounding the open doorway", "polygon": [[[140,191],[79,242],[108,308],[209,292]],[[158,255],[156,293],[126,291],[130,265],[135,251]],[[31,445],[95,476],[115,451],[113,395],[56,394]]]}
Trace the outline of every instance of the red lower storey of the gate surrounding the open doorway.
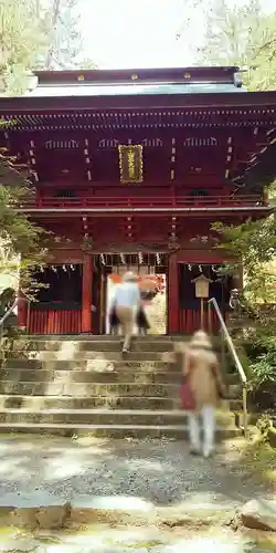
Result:
{"label": "red lower storey of the gate surrounding the open doorway", "polygon": [[[201,327],[200,301],[194,279],[210,279],[210,298],[214,296],[226,317],[232,279],[222,279],[220,263],[182,262],[177,254],[93,254],[83,263],[50,264],[36,278],[49,288],[41,288],[30,310],[19,309],[19,325],[33,334],[105,334],[108,306],[108,280],[132,270],[141,278],[155,274],[166,282],[167,313],[164,332],[191,334]],[[136,258],[135,258],[136,255]],[[137,262],[135,262],[137,261]],[[161,282],[161,281],[160,281]],[[163,285],[163,284],[162,284]],[[22,304],[23,305],[23,304]],[[24,324],[22,324],[22,321]],[[21,324],[20,324],[21,323]],[[210,330],[210,313],[204,301],[203,326]],[[215,312],[211,311],[211,330],[219,331]]]}

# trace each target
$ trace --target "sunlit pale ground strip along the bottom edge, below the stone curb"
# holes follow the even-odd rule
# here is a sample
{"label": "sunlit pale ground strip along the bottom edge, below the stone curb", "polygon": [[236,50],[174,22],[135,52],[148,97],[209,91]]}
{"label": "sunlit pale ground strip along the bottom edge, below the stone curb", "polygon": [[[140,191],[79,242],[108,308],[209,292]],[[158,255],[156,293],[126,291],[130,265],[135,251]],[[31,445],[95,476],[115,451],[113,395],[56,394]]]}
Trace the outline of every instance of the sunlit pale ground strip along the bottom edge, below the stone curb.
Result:
{"label": "sunlit pale ground strip along the bottom edge, below the stone curb", "polygon": [[[272,543],[272,542],[270,542]],[[275,543],[275,542],[274,542]],[[273,547],[273,545],[272,545]],[[11,530],[0,538],[4,553],[273,553],[267,541],[229,529],[183,531],[91,528],[81,532],[26,533]]]}

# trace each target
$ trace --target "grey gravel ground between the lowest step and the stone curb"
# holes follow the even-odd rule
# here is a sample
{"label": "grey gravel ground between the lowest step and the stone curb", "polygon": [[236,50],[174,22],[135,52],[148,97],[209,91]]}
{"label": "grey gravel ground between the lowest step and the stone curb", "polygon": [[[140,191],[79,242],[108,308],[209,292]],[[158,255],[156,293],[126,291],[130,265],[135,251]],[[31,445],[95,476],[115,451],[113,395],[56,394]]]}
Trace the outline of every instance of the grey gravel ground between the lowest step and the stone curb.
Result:
{"label": "grey gravel ground between the lowest step and the stone curb", "polygon": [[189,455],[188,444],[169,440],[98,440],[0,436],[0,495],[34,488],[60,498],[138,497],[157,507],[187,497],[223,497],[231,505],[264,495],[241,470],[235,440],[213,459]]}

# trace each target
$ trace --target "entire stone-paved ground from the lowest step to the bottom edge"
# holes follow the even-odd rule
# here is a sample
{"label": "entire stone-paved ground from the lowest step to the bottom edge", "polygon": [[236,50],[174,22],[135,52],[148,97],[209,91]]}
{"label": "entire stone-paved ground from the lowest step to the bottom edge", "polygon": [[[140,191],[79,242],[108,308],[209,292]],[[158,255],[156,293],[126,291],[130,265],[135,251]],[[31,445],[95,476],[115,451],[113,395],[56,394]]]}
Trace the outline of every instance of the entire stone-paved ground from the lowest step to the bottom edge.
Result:
{"label": "entire stone-paved ground from the lowest step to the bottom edge", "polygon": [[[190,457],[183,441],[0,436],[0,510],[35,511],[39,521],[15,536],[0,529],[0,552],[273,551],[227,525],[236,508],[265,497],[241,470],[240,446],[221,446],[203,460]],[[54,522],[56,505],[63,513],[70,505],[70,531],[47,526],[47,505]],[[1,524],[4,531],[3,518]]]}

